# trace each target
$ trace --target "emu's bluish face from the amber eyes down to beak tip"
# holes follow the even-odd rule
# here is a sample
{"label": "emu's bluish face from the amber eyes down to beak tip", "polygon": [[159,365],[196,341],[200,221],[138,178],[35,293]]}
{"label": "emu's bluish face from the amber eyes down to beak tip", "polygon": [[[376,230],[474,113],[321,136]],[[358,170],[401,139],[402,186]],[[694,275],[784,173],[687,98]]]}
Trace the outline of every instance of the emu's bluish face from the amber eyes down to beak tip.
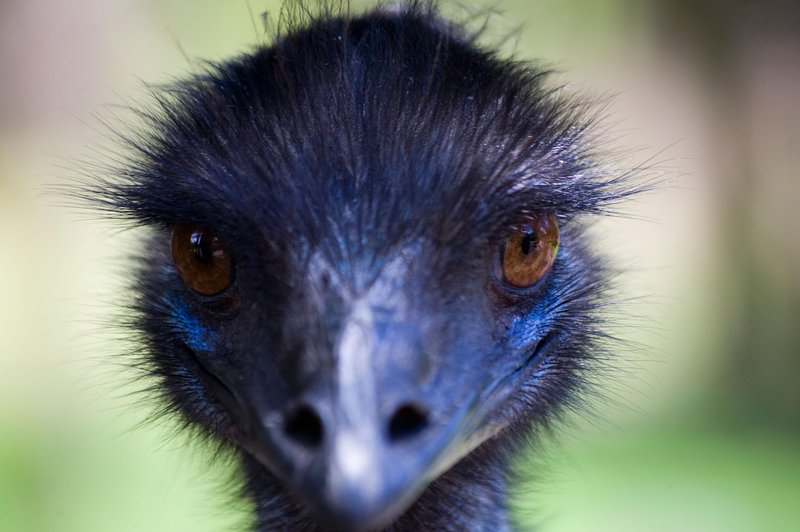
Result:
{"label": "emu's bluish face from the amber eyes down to beak tip", "polygon": [[375,239],[339,219],[280,243],[255,223],[175,224],[145,276],[154,349],[189,369],[172,389],[190,415],[325,519],[385,525],[556,363],[554,294],[571,275],[556,217],[516,222]]}

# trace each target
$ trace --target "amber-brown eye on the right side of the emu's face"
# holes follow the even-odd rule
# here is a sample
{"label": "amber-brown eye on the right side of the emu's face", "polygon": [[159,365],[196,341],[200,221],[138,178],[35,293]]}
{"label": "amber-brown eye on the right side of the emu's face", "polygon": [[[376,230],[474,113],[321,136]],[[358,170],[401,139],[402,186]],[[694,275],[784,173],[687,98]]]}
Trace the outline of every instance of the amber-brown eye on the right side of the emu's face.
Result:
{"label": "amber-brown eye on the right side of the emu's face", "polygon": [[500,250],[503,280],[517,288],[536,284],[558,252],[558,226],[552,214],[531,216],[506,238]]}

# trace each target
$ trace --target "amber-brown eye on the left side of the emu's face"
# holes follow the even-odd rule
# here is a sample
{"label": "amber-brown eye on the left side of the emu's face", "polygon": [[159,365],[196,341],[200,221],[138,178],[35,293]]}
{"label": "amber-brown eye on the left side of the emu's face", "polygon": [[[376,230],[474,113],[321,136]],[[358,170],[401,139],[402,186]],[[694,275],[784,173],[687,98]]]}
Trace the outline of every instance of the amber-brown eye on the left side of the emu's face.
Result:
{"label": "amber-brown eye on the left side of the emu's face", "polygon": [[203,227],[175,226],[172,260],[183,282],[198,294],[213,296],[231,284],[231,258],[219,239]]}

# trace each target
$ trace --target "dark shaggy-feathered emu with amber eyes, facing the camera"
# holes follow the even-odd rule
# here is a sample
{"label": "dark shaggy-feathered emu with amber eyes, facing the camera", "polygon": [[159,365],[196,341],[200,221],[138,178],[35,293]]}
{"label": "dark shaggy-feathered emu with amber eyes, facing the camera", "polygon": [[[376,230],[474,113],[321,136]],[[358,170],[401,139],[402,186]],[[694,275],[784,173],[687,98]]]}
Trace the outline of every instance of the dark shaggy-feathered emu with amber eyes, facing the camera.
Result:
{"label": "dark shaggy-feathered emu with amber eyes, facing the camera", "polygon": [[142,229],[135,365],[257,530],[509,530],[513,456],[605,349],[587,227],[635,187],[591,101],[434,2],[290,4],[76,193]]}

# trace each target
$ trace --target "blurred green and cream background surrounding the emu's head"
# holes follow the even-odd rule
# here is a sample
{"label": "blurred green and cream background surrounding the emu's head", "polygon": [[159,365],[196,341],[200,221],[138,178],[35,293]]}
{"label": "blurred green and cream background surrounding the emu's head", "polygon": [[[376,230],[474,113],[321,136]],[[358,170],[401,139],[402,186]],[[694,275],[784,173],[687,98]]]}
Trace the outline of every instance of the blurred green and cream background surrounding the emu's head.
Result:
{"label": "blurred green and cream background surrounding the emu's head", "polygon": [[[628,347],[591,414],[521,460],[520,528],[800,529],[798,3],[487,4],[489,40],[512,34],[506,50],[557,66],[571,89],[613,94],[620,166],[667,181],[596,228],[629,272]],[[105,104],[192,71],[187,57],[250,49],[276,6],[0,3],[1,531],[246,520],[219,495],[224,461],[138,426],[148,407],[102,326],[130,242],[41,190],[91,155],[95,115],[114,121]]]}

